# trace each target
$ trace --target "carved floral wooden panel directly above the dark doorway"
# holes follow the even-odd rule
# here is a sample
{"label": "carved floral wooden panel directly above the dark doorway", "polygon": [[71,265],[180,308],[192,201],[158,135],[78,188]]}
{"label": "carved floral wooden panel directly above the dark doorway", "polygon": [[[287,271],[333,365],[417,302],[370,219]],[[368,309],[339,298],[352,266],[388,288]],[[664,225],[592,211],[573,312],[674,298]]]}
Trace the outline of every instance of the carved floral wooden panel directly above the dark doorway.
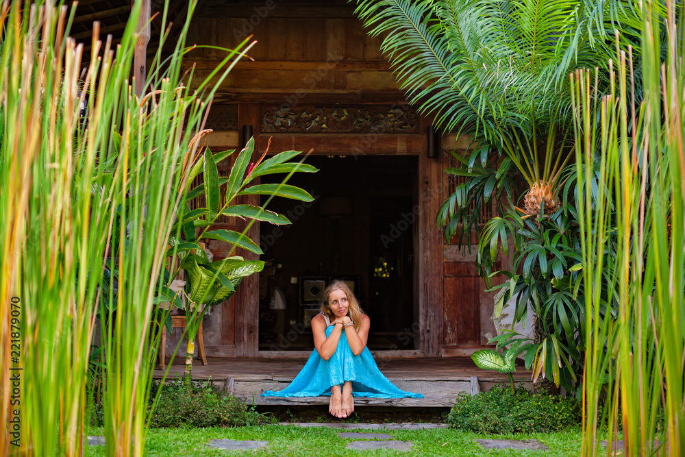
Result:
{"label": "carved floral wooden panel directly above the dark doorway", "polygon": [[408,106],[266,108],[262,133],[418,133],[419,116]]}

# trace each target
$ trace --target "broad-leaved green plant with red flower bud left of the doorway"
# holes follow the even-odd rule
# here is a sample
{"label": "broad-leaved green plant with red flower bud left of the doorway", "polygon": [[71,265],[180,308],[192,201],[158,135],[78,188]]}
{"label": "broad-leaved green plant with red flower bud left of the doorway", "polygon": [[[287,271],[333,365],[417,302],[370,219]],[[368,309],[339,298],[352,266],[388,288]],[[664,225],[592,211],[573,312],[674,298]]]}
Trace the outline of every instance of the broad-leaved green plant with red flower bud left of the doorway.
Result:
{"label": "broad-leaved green plant with red flower bud left of the doorway", "polygon": [[[266,221],[275,225],[290,224],[288,218],[282,214],[267,211],[260,206],[232,205],[238,195],[270,195],[312,201],[313,197],[305,190],[287,184],[269,184],[249,186],[249,183],[259,175],[274,173],[304,172],[314,173],[316,168],[311,165],[288,162],[295,158],[299,151],[284,151],[273,158],[264,160],[264,156],[255,163],[250,164],[253,156],[255,141],[250,138],[245,148],[240,151],[236,162],[228,177],[219,177],[217,163],[221,162],[234,151],[223,151],[213,154],[209,150],[200,156],[197,164],[193,166],[188,179],[179,193],[181,210],[173,223],[169,243],[171,248],[167,251],[169,256],[177,254],[179,264],[177,268],[186,272],[186,293],[188,304],[186,315],[190,308],[197,304],[213,306],[229,299],[240,284],[240,279],[258,273],[264,268],[261,260],[243,260],[239,256],[229,256],[219,262],[210,262],[198,244],[206,240],[219,240],[229,243],[235,249],[240,247],[254,254],[263,254],[259,245],[245,234],[233,230],[210,230],[212,224],[219,216],[234,216],[251,221]],[[200,166],[201,165],[201,166]],[[190,188],[192,177],[203,173],[204,182],[201,186]],[[266,188],[265,186],[270,186]],[[190,209],[190,201],[197,197],[205,196],[207,208]],[[198,233],[199,230],[199,233]],[[170,269],[173,269],[172,263]],[[176,275],[171,275],[171,278]],[[160,288],[160,295],[175,300],[174,294],[168,288]],[[201,317],[201,316],[199,316]],[[190,325],[189,327],[193,327]],[[192,330],[192,329],[191,329]],[[192,331],[190,332],[192,334]]]}

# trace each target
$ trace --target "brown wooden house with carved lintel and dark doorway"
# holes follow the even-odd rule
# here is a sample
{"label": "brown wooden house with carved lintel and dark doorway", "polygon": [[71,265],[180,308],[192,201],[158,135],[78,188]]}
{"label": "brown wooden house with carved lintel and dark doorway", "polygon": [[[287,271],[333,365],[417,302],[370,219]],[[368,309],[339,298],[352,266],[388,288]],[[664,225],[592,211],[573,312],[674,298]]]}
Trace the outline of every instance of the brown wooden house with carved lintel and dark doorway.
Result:
{"label": "brown wooden house with carved lintel and dark doorway", "polygon": [[[177,24],[185,3],[171,2]],[[116,33],[126,5],[81,1],[77,25],[97,18]],[[152,14],[159,8],[153,1]],[[494,333],[493,294],[476,273],[475,250],[462,255],[436,223],[456,185],[445,173],[450,153],[464,142],[453,134],[436,138],[430,120],[408,105],[381,39],[366,34],[353,9],[345,0],[201,0],[195,10],[188,44],[198,48],[186,62],[196,81],[225,57],[218,48],[256,40],[251,60],[241,60],[216,93],[206,125],[214,130],[210,148],[234,149],[254,136],[255,158],[271,141],[269,154],[309,152],[306,163],[320,169],[290,180],[314,202],[269,203],[292,225],[249,229],[267,265],[205,318],[210,360],[308,356],[308,319],[332,278],[354,284],[371,317],[369,347],[383,360],[468,356]],[[155,21],[149,47],[160,33]],[[245,228],[229,218],[220,225]],[[219,242],[208,249],[215,259],[228,254]],[[469,363],[462,365],[473,369]]]}

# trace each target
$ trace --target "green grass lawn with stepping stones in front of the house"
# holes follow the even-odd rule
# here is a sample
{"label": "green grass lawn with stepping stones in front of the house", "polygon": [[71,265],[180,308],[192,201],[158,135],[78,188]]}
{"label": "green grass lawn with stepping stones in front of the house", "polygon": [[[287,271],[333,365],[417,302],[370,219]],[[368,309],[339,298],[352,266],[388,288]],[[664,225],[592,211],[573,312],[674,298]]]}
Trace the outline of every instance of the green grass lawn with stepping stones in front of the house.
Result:
{"label": "green grass lawn with stepping stones in front of the house", "polygon": [[[347,443],[360,441],[338,437],[339,432],[386,433],[397,440],[411,441],[408,452],[378,450],[355,451],[345,449]],[[91,429],[88,434],[101,434]],[[484,449],[474,439],[536,439],[549,447],[548,451],[514,449]],[[223,451],[208,447],[214,439],[260,440],[269,445],[253,451]],[[262,427],[152,429],[145,445],[145,456],[225,456],[249,454],[254,456],[579,456],[581,433],[572,432],[481,435],[452,429],[431,430],[340,430],[325,427],[301,428],[292,425],[264,425]],[[101,446],[88,447],[86,456],[103,456]]]}

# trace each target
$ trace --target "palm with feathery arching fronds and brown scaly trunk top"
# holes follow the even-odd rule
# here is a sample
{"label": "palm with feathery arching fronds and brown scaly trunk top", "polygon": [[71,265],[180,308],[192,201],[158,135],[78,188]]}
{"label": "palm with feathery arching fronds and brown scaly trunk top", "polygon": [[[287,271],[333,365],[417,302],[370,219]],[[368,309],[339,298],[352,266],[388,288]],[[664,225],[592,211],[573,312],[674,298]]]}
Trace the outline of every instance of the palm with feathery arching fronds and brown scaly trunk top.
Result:
{"label": "palm with feathery arching fronds and brown scaly trunk top", "polygon": [[[356,3],[369,34],[384,36],[382,51],[410,103],[437,127],[506,156],[529,186],[523,212],[553,212],[572,151],[568,75],[606,69],[614,55],[607,25],[627,27],[621,40],[631,44],[638,9],[618,0]],[[600,95],[606,86],[600,77]],[[453,216],[441,213],[443,223]]]}

